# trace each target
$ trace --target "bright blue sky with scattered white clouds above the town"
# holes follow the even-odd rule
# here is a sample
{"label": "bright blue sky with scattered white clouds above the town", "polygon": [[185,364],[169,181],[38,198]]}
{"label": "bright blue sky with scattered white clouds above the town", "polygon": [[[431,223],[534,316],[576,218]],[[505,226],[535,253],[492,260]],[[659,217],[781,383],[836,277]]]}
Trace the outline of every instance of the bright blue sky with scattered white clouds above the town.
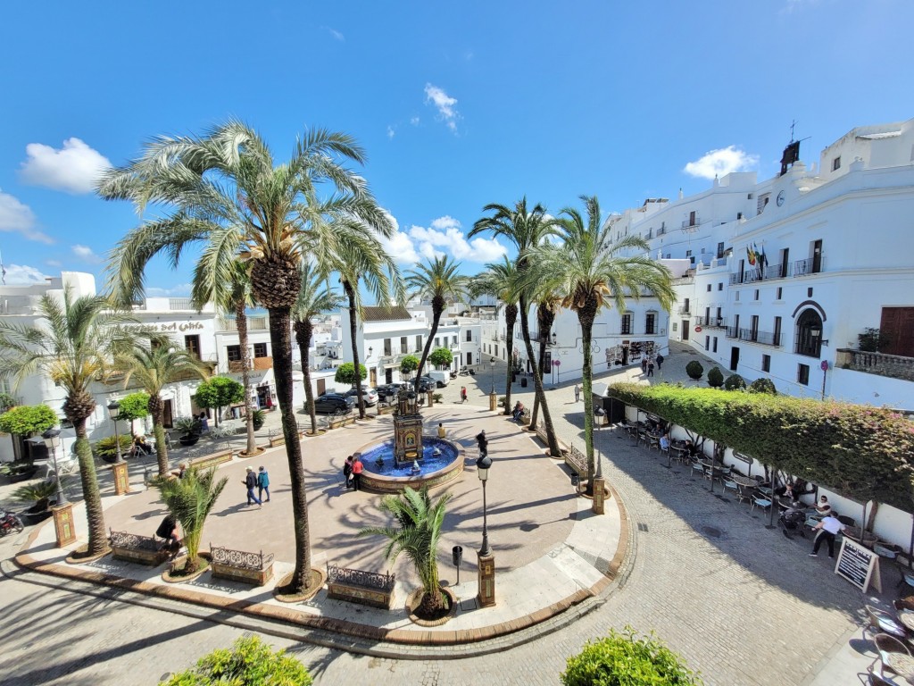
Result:
{"label": "bright blue sky with scattered white clouds above the town", "polygon": [[[229,116],[280,158],[307,127],[355,135],[401,267],[437,251],[467,273],[503,249],[463,238],[486,203],[622,210],[699,192],[715,168],[773,176],[794,119],[809,163],[854,126],[914,116],[909,0],[329,5],[5,5],[7,283],[65,269],[101,285],[137,217],[91,193],[100,166]],[[190,271],[152,264],[150,293],[186,295]]]}

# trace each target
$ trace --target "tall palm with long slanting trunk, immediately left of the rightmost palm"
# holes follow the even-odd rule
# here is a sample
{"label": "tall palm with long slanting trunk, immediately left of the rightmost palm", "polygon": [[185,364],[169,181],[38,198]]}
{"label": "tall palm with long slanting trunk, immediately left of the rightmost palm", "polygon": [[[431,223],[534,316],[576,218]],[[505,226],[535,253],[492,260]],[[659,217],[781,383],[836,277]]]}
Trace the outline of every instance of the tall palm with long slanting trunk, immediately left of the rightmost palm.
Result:
{"label": "tall palm with long slanting trunk, immediately left of the rightmost palm", "polygon": [[[515,203],[515,207],[509,208],[505,205],[489,204],[483,208],[484,212],[492,212],[491,217],[484,217],[477,220],[470,230],[470,238],[482,233],[491,231],[495,236],[503,236],[514,244],[517,251],[515,263],[519,278],[523,281],[526,278],[526,272],[530,267],[530,261],[527,252],[535,248],[546,240],[547,236],[556,232],[556,220],[547,215],[546,208],[538,205],[531,210],[526,209],[526,198],[522,198]],[[561,456],[556,439],[556,430],[552,424],[552,416],[546,402],[546,391],[543,389],[543,375],[537,365],[537,357],[533,351],[533,344],[530,340],[530,296],[527,288],[522,288],[517,296],[517,304],[520,315],[521,333],[524,337],[524,347],[526,348],[527,359],[533,366],[533,384],[537,391],[537,399],[543,408],[543,423],[546,424],[546,435],[549,443],[549,454],[554,457]]]}

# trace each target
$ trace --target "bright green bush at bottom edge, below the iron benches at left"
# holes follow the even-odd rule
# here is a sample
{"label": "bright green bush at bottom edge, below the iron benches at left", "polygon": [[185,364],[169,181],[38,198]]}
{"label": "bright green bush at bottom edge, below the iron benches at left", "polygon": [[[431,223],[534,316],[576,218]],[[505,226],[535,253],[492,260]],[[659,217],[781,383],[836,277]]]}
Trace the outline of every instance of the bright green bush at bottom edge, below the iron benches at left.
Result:
{"label": "bright green bush at bottom edge, below the iron benches at left", "polygon": [[172,674],[160,686],[310,686],[311,675],[285,650],[275,652],[257,636],[213,650],[197,667]]}

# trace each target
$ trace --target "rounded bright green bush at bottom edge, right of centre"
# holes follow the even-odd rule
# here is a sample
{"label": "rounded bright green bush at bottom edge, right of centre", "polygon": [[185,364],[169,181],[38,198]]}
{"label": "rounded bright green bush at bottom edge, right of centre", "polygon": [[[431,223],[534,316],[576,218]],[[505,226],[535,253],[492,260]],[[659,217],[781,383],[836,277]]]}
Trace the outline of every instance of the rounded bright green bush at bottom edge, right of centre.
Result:
{"label": "rounded bright green bush at bottom edge, right of centre", "polygon": [[701,686],[695,672],[652,632],[640,638],[625,627],[622,633],[588,641],[578,655],[568,659],[562,672],[564,686]]}

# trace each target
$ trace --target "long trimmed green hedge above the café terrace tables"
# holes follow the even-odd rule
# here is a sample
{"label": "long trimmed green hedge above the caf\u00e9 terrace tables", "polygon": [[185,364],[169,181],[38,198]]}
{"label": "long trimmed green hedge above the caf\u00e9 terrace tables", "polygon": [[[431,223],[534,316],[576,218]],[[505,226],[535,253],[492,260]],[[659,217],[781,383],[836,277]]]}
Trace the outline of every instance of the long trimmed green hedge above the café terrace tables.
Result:
{"label": "long trimmed green hedge above the caf\u00e9 terrace tables", "polygon": [[668,384],[609,394],[848,498],[911,509],[914,422],[887,408]]}

